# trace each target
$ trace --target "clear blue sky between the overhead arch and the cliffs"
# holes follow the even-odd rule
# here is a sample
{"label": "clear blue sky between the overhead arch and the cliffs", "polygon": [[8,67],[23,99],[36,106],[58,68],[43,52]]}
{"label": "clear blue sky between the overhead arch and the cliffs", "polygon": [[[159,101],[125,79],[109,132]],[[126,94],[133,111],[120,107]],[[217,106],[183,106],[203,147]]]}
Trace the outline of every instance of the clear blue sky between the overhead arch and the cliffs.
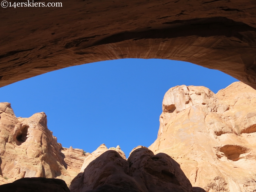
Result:
{"label": "clear blue sky between the overhead arch and the cliffs", "polygon": [[165,92],[176,85],[217,93],[237,81],[182,61],[120,59],[60,69],[0,88],[17,117],[45,112],[63,147],[92,152],[105,143],[126,156],[157,138]]}

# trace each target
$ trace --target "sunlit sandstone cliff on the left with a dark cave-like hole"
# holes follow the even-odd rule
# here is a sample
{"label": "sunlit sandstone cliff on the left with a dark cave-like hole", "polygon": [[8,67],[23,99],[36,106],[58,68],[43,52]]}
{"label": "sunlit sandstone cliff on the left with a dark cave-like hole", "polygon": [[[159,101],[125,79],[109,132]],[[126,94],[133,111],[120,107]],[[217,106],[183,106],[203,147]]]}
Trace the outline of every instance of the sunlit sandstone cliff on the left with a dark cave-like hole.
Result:
{"label": "sunlit sandstone cliff on the left with a dark cave-like hole", "polygon": [[87,155],[82,149],[62,148],[47,128],[45,113],[17,118],[10,103],[0,103],[0,184],[46,177],[69,185]]}

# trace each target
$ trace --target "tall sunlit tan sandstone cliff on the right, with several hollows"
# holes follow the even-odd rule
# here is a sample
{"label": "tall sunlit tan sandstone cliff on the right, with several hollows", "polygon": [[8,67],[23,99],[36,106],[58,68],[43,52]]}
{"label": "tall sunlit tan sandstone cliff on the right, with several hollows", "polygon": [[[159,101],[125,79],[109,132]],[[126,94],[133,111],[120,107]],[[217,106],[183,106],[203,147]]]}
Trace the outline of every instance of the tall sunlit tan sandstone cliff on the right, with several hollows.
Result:
{"label": "tall sunlit tan sandstone cliff on the right, with several hollows", "polygon": [[256,172],[255,146],[256,91],[235,82],[217,94],[202,86],[171,88],[149,149],[172,156],[193,186],[234,192]]}

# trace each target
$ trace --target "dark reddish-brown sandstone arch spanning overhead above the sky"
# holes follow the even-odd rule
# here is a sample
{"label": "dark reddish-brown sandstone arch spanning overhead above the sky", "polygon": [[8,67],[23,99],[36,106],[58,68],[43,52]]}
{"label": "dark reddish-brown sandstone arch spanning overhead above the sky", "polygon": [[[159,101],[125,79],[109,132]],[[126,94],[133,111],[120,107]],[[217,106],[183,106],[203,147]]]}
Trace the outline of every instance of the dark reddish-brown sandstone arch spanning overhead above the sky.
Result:
{"label": "dark reddish-brown sandstone arch spanning overhead above the sky", "polygon": [[84,63],[159,58],[218,69],[256,89],[252,0],[61,2],[1,9],[0,87]]}

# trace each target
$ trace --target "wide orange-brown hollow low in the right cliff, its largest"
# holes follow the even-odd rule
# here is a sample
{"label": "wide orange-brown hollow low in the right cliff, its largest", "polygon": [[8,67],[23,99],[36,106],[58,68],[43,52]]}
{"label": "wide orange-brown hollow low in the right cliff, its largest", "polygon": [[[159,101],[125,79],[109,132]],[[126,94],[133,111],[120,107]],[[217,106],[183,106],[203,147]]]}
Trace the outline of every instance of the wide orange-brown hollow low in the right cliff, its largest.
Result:
{"label": "wide orange-brown hollow low in the right cliff, its largest", "polygon": [[224,153],[225,156],[231,161],[238,161],[241,154],[248,152],[248,149],[238,145],[225,145],[220,148],[220,152]]}

